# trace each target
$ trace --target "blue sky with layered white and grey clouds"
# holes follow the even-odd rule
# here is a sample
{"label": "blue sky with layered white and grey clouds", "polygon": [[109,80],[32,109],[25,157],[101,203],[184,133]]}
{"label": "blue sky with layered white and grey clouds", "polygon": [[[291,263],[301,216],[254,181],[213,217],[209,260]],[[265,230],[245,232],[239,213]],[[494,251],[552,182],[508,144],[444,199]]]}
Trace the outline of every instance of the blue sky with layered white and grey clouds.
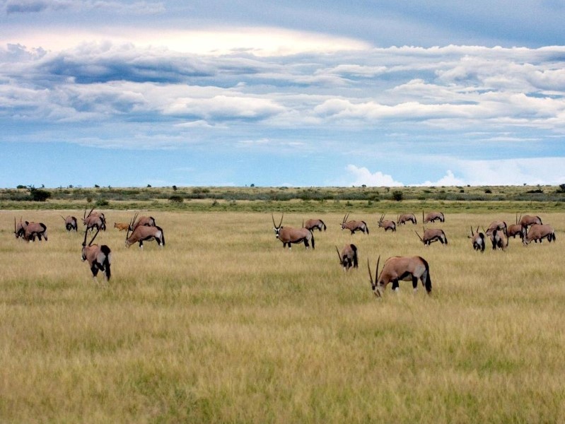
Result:
{"label": "blue sky with layered white and grey clouds", "polygon": [[565,183],[565,1],[0,0],[0,187]]}

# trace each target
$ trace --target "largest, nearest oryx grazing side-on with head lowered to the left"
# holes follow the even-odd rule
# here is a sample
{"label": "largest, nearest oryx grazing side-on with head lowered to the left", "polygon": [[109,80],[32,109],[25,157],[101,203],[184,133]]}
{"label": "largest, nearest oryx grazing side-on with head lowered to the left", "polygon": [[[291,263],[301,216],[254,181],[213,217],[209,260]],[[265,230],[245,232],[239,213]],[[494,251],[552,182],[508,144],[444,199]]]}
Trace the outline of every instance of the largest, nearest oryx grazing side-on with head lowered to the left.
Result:
{"label": "largest, nearest oryx grazing side-on with head lowered to the left", "polygon": [[383,271],[378,273],[378,263],[380,256],[377,259],[377,268],[375,269],[376,280],[373,282],[371,275],[371,266],[367,259],[367,267],[369,269],[369,278],[371,281],[371,288],[375,296],[380,298],[383,295],[388,283],[392,283],[392,290],[399,289],[398,281],[411,281],[414,293],[418,289],[418,279],[422,285],[426,287],[426,292],[431,294],[431,278],[430,267],[426,259],[422,257],[391,257],[388,258],[383,266]]}

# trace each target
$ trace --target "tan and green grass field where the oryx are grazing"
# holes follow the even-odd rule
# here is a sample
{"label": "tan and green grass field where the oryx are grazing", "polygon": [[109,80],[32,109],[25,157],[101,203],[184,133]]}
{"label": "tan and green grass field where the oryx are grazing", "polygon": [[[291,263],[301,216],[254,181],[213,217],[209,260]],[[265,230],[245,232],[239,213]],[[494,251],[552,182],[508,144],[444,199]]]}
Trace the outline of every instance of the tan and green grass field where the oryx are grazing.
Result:
{"label": "tan and green grass field where the oryx are grazing", "polygon": [[[556,243],[474,252],[458,213],[449,245],[421,225],[370,235],[322,218],[315,249],[291,252],[267,213],[151,212],[166,246],[124,247],[108,211],[96,242],[112,279],[80,261],[83,234],[60,215],[0,211],[0,421],[10,423],[559,423],[565,421],[565,213],[540,213]],[[13,237],[42,221],[48,242]],[[279,215],[275,213],[278,223]],[[79,225],[79,228],[81,225]],[[354,242],[360,267],[339,266]],[[433,291],[373,296],[367,259],[421,255]]]}

